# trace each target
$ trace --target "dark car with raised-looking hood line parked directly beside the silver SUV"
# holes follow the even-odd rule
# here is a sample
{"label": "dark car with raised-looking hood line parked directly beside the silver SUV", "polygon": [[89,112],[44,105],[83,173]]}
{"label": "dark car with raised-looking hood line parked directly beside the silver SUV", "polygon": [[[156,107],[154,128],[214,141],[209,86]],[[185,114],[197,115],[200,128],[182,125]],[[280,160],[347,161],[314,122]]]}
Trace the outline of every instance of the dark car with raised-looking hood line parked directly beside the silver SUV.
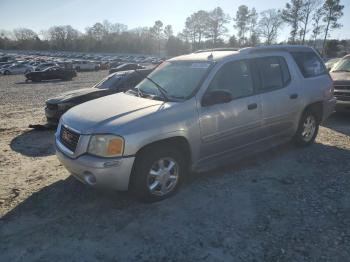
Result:
{"label": "dark car with raised-looking hood line parked directly beside the silver SUV", "polygon": [[148,74],[151,69],[116,72],[97,83],[92,88],[83,88],[51,98],[46,101],[45,115],[50,125],[57,125],[60,117],[73,106],[81,103],[123,92],[135,87]]}

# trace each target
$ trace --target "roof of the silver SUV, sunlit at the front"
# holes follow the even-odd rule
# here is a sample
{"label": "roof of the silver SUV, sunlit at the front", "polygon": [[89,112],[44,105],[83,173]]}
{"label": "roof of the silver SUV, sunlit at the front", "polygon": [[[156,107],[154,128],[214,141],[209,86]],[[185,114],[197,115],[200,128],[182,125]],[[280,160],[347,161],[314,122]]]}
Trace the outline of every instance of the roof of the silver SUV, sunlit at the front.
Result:
{"label": "roof of the silver SUV, sunlit at the front", "polygon": [[228,57],[232,57],[239,54],[254,54],[271,51],[282,52],[310,52],[314,51],[313,48],[303,45],[271,45],[271,46],[258,46],[258,47],[246,47],[242,49],[207,49],[199,50],[195,53],[182,55],[169,59],[168,61],[219,61]]}

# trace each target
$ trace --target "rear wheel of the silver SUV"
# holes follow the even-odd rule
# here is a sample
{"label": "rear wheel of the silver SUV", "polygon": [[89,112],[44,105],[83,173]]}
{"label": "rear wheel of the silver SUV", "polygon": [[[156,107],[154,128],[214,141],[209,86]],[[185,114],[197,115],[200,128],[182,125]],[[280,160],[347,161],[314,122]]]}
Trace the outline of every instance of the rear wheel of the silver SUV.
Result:
{"label": "rear wheel of the silver SUV", "polygon": [[312,110],[306,110],[299,122],[294,142],[297,146],[305,147],[313,144],[318,134],[320,120],[318,114]]}

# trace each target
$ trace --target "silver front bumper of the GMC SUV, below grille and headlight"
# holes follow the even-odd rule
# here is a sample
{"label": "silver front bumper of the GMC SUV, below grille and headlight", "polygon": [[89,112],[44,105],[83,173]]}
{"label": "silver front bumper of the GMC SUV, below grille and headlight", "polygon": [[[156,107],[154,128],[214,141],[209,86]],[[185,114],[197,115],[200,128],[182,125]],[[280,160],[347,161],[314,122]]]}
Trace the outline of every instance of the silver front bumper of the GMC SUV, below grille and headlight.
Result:
{"label": "silver front bumper of the GMC SUV, below grille and headlight", "polygon": [[71,158],[60,147],[64,146],[56,138],[56,155],[59,161],[79,181],[90,186],[128,190],[135,157],[109,159],[83,154]]}

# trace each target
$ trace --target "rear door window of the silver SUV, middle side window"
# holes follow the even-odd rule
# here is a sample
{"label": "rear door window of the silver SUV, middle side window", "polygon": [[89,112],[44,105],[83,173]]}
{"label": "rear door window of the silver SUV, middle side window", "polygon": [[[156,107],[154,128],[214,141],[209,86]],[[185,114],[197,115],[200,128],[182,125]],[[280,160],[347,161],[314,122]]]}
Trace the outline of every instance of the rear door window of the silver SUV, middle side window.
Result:
{"label": "rear door window of the silver SUV, middle side window", "polygon": [[261,80],[260,85],[258,85],[260,91],[283,88],[291,80],[287,63],[283,57],[257,58],[256,66]]}

